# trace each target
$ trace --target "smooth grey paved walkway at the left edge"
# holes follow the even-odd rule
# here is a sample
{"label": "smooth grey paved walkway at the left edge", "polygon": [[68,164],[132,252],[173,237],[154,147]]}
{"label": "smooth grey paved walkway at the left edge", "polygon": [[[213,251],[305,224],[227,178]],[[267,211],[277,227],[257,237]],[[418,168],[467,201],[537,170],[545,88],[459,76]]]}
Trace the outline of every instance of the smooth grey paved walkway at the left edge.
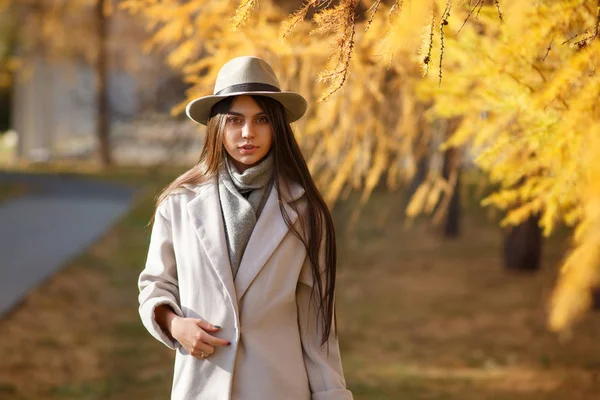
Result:
{"label": "smooth grey paved walkway at the left edge", "polygon": [[0,316],[96,241],[129,208],[131,187],[0,171],[32,190],[0,203]]}

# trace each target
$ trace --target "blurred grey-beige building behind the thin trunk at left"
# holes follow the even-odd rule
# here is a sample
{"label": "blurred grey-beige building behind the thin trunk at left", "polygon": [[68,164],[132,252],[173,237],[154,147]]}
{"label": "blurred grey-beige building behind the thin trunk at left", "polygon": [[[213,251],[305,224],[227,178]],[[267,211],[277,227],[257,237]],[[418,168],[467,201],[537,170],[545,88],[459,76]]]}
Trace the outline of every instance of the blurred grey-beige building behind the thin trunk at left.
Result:
{"label": "blurred grey-beige building behind the thin trunk at left", "polygon": [[[130,15],[115,10],[107,17],[106,32],[107,120],[114,162],[193,163],[202,146],[198,127],[170,115],[185,99],[186,85],[159,54],[143,51],[140,44],[148,40],[147,33]],[[3,116],[3,130],[18,135],[17,159],[93,158],[98,140],[95,62],[82,52],[49,54],[44,45],[49,39],[40,40],[41,46],[19,54],[22,67],[14,71],[12,90],[4,96],[3,108],[10,112]]]}

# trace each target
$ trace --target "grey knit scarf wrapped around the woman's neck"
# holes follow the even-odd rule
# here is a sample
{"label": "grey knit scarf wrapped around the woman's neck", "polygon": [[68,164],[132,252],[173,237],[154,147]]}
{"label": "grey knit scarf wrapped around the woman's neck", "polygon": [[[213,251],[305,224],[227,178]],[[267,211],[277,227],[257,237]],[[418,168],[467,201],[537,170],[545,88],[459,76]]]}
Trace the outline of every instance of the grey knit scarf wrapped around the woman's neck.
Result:
{"label": "grey knit scarf wrapped around the woman's neck", "polygon": [[223,213],[227,250],[233,276],[237,275],[242,255],[256,221],[273,186],[273,156],[239,173],[229,157],[219,168],[219,201]]}

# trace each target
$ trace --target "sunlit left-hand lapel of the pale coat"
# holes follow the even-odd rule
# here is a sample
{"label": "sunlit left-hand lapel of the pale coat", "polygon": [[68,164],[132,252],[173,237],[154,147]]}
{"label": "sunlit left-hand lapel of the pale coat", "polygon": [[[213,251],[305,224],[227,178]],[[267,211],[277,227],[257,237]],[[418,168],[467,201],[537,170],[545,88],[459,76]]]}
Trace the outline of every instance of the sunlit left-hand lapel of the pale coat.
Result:
{"label": "sunlit left-hand lapel of the pale coat", "polygon": [[212,267],[227,290],[237,313],[238,297],[233,283],[231,264],[229,263],[216,178],[212,178],[210,181],[198,186],[184,186],[197,192],[196,197],[187,203],[187,211],[196,235],[202,243]]}

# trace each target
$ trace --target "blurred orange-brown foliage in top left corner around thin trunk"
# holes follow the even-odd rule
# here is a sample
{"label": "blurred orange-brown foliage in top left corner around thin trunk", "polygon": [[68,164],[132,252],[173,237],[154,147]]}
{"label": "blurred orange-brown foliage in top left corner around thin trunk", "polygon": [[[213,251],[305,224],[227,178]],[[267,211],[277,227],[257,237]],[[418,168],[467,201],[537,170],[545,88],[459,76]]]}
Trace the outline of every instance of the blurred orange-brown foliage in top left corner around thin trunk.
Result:
{"label": "blurred orange-brown foliage in top left corner around thin trunk", "polygon": [[[98,10],[107,23],[107,46],[119,53],[128,43],[139,40],[141,31],[128,14],[115,14],[119,0],[0,0],[0,77],[6,74],[12,84],[12,74],[21,70],[27,78],[35,64],[68,61],[66,64],[94,65],[99,54]],[[121,19],[112,29],[111,18]],[[124,53],[124,52],[122,52]],[[138,66],[137,55],[120,56],[115,62],[133,71]],[[0,78],[1,79],[1,78]]]}

